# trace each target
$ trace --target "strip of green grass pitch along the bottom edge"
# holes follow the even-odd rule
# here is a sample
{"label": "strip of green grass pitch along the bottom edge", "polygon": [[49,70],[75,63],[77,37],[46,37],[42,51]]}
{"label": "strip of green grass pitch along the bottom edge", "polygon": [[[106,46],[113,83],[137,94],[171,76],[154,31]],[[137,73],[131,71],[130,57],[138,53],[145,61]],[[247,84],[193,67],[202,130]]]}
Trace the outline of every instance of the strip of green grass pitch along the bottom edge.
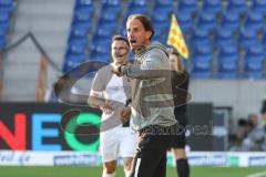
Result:
{"label": "strip of green grass pitch along the bottom edge", "polygon": [[[265,168],[192,167],[191,177],[247,177],[265,173]],[[0,177],[101,177],[102,167],[0,167]],[[120,167],[116,177],[124,177]],[[167,177],[176,177],[175,169],[167,168]],[[259,176],[259,177],[266,177]]]}

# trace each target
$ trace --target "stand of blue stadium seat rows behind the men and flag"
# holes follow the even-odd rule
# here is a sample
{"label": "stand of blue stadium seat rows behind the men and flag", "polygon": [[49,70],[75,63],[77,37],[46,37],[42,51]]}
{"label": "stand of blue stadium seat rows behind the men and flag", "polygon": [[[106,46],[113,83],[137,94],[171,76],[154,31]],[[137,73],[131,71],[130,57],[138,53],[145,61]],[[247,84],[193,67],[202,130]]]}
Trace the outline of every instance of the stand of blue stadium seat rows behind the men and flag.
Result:
{"label": "stand of blue stadium seat rows behind the men and flag", "polygon": [[[80,13],[84,10],[81,10],[83,9],[81,0],[76,0],[79,8],[74,9],[64,63],[69,63],[66,60],[72,60],[75,53],[82,53],[82,51],[84,56],[91,60],[109,61],[110,50],[106,46],[110,44],[111,37],[114,33],[126,35],[125,21],[132,13],[149,14],[155,28],[153,40],[163,44],[166,43],[167,39],[170,14],[175,13],[191,51],[192,60],[188,62],[187,69],[192,71],[192,75],[200,73],[195,75],[198,79],[202,76],[203,79],[254,77],[246,74],[246,72],[250,72],[250,63],[247,64],[246,61],[253,60],[246,59],[249,55],[245,55],[244,60],[243,55],[253,45],[266,46],[266,2],[264,0],[124,0],[121,1],[122,3],[117,0],[102,0],[100,14],[91,8],[95,6],[92,1],[83,2],[86,2],[84,6],[90,7],[88,8],[90,13],[81,15]],[[95,18],[94,23],[92,17]],[[92,30],[93,28],[94,30]],[[79,40],[80,38],[86,39],[84,45],[73,42],[73,39]],[[202,55],[197,56],[195,53],[197,51],[194,51],[197,48],[196,45],[212,46],[211,59],[209,55],[207,59]],[[226,46],[232,46],[234,52],[236,49],[236,53],[234,55],[224,54],[224,51],[226,51],[224,48]],[[71,58],[68,58],[69,55]],[[259,72],[258,75],[264,77],[265,53],[260,58],[259,61],[263,65],[257,72]],[[212,64],[212,62],[215,64]],[[242,69],[243,65],[245,65],[245,69]],[[204,70],[200,70],[201,66]],[[63,71],[69,69],[71,69],[71,65],[64,67]],[[242,70],[243,72],[239,72]],[[205,73],[201,74],[202,71]],[[255,76],[255,79],[260,76]]]}

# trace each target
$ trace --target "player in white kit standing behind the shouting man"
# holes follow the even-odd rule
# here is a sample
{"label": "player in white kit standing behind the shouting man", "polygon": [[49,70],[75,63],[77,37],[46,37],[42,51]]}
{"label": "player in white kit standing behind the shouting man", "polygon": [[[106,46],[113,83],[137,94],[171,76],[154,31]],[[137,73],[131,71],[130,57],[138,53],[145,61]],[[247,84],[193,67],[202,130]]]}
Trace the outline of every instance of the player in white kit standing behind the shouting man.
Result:
{"label": "player in white kit standing behind the shouting man", "polygon": [[125,106],[130,84],[126,77],[116,76],[111,72],[114,66],[129,64],[130,43],[127,39],[114,35],[111,51],[113,62],[98,71],[92,84],[89,104],[102,111],[102,122],[111,119],[110,124],[101,126],[102,177],[115,176],[119,156],[123,157],[125,177],[129,177],[131,164],[136,153],[137,139],[135,132],[130,127],[130,123],[123,124],[121,122],[120,111]]}

